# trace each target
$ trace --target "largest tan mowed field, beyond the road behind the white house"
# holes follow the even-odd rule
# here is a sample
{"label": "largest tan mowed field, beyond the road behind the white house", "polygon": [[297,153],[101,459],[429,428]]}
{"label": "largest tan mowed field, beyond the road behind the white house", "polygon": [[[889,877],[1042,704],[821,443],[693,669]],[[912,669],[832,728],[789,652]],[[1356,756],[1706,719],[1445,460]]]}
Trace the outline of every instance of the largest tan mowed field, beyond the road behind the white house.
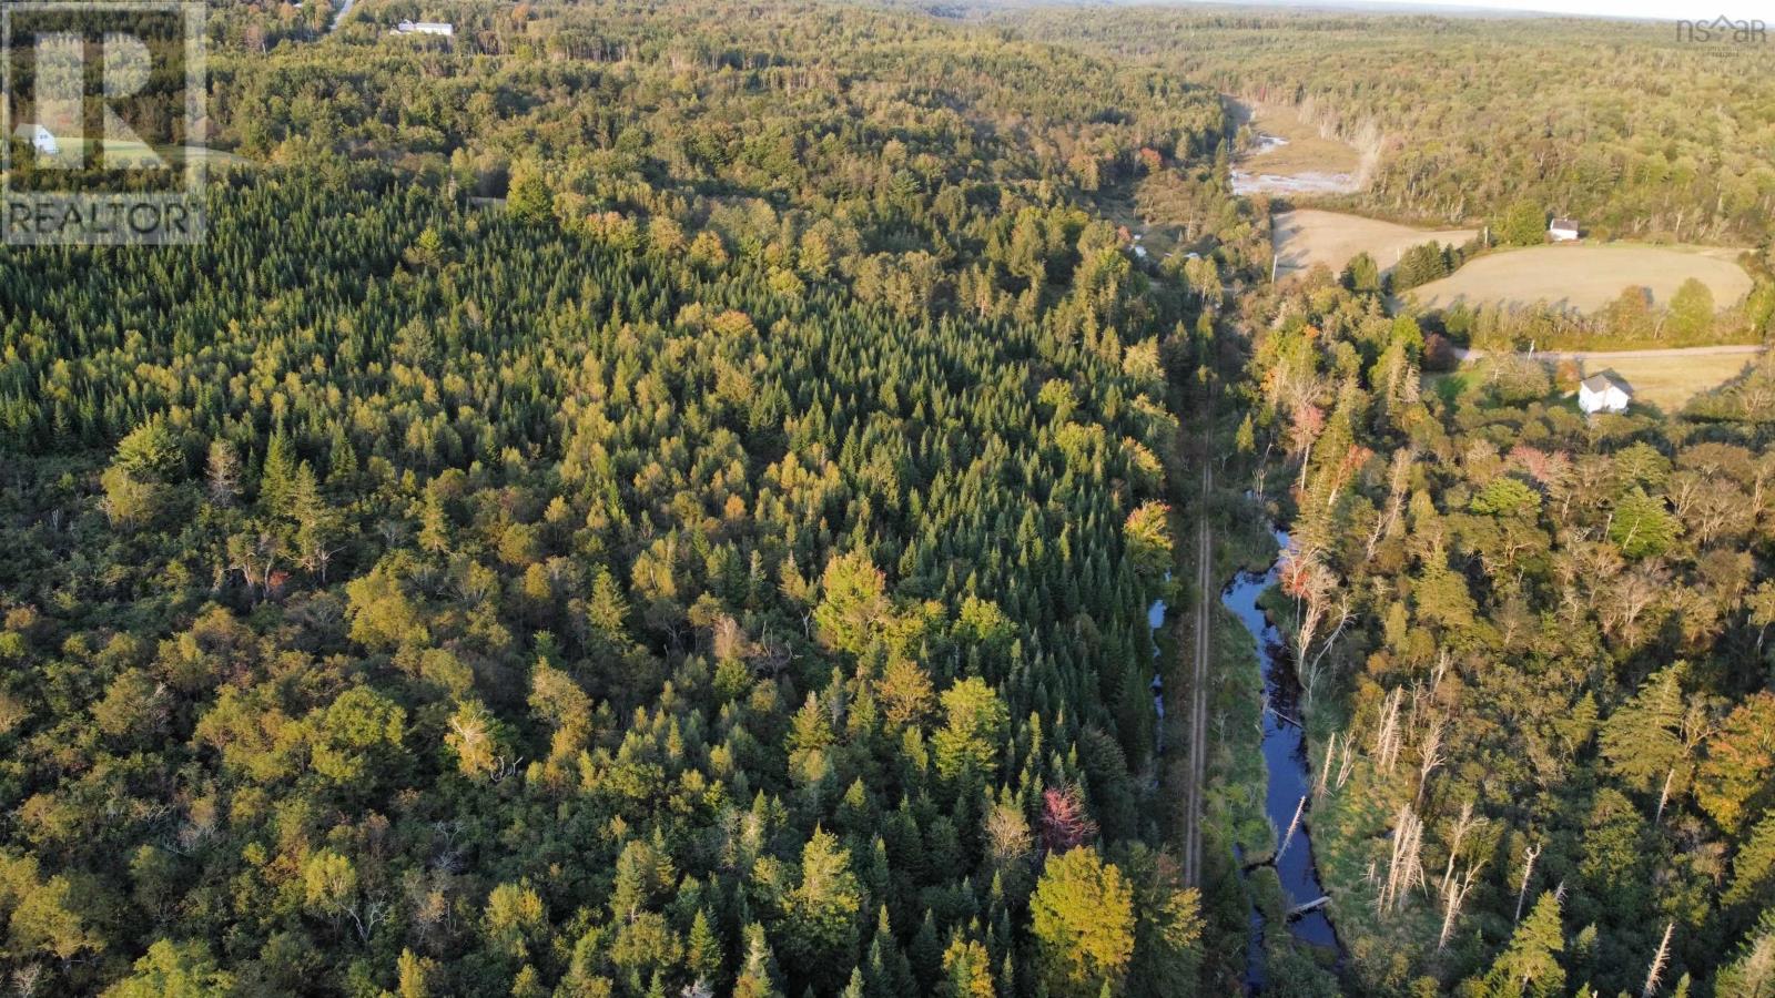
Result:
{"label": "largest tan mowed field, beyond the road behind the white house", "polygon": [[1651,289],[1654,305],[1667,305],[1676,289],[1695,277],[1713,291],[1715,305],[1724,309],[1750,291],[1750,275],[1738,266],[1736,257],[1738,250],[1704,247],[1528,247],[1473,259],[1411,295],[1427,309],[1457,302],[1546,302],[1594,313],[1635,286]]}

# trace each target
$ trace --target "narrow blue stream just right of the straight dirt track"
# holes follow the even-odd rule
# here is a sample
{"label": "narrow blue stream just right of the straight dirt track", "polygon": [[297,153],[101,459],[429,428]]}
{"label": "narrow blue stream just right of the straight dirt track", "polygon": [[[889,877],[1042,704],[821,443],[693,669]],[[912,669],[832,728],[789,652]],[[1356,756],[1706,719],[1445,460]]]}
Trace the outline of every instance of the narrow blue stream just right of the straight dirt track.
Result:
{"label": "narrow blue stream just right of the straight dirt track", "polygon": [[[1276,543],[1289,547],[1289,535],[1276,533]],[[1310,904],[1324,897],[1319,884],[1319,868],[1314,865],[1314,845],[1306,835],[1306,813],[1312,806],[1312,765],[1306,758],[1305,732],[1299,719],[1299,682],[1289,661],[1287,645],[1267,614],[1258,609],[1257,598],[1276,582],[1280,558],[1267,572],[1241,572],[1221,590],[1221,604],[1239,618],[1239,623],[1251,632],[1257,641],[1257,661],[1264,671],[1264,693],[1269,709],[1264,712],[1264,767],[1269,771],[1269,790],[1264,797],[1264,812],[1276,828],[1276,849],[1280,854],[1271,863],[1282,879],[1282,890],[1289,899],[1289,907]],[[1303,801],[1306,804],[1303,806]],[[1299,813],[1299,824],[1296,815]],[[1292,838],[1289,828],[1294,826]],[[1305,943],[1315,947],[1338,948],[1337,932],[1324,909],[1308,911],[1289,920],[1289,931]],[[1251,952],[1246,970],[1246,984],[1253,991],[1262,991],[1262,916],[1251,913]]]}

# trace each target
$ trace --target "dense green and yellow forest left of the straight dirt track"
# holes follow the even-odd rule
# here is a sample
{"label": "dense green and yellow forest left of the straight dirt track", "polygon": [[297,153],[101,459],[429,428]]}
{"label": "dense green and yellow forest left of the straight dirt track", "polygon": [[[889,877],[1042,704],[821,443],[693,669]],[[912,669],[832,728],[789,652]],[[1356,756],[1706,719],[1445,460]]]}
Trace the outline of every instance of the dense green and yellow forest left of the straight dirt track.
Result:
{"label": "dense green and yellow forest left of the straight dirt track", "polygon": [[[312,12],[213,20],[206,243],[0,256],[7,987],[1191,993],[1168,369],[1267,252],[1214,96],[843,5]],[[1136,170],[1196,288],[1083,210]]]}

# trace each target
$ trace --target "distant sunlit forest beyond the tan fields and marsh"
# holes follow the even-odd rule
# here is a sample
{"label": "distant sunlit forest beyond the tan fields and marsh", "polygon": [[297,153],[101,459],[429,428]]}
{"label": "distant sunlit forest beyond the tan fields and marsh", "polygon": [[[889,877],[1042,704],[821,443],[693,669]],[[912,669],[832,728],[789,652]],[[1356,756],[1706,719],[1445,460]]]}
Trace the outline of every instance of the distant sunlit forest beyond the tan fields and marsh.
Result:
{"label": "distant sunlit forest beyond the tan fields and marsh", "polygon": [[1001,14],[1030,37],[1156,66],[1374,153],[1354,206],[1503,233],[1532,206],[1596,238],[1764,245],[1775,231],[1768,44],[1672,21],[1164,5]]}

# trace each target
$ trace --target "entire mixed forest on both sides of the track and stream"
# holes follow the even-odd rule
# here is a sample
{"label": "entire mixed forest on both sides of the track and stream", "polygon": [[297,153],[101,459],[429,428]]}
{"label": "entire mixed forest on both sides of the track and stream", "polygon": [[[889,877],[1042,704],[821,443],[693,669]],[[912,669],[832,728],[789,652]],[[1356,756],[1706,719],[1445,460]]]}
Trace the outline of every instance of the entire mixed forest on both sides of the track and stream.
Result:
{"label": "entire mixed forest on both sides of the track and stream", "polygon": [[[204,243],[0,250],[0,987],[1237,993],[1246,858],[1214,826],[1186,883],[1148,685],[1207,510],[1292,536],[1342,941],[1258,932],[1266,993],[1771,994],[1775,366],[1594,419],[1509,357],[1425,380],[1445,336],[1644,316],[1271,282],[1221,98],[1374,144],[1345,206],[1766,259],[1764,55],[339,14],[211,7]],[[1720,321],[1766,329],[1764,270]]]}

